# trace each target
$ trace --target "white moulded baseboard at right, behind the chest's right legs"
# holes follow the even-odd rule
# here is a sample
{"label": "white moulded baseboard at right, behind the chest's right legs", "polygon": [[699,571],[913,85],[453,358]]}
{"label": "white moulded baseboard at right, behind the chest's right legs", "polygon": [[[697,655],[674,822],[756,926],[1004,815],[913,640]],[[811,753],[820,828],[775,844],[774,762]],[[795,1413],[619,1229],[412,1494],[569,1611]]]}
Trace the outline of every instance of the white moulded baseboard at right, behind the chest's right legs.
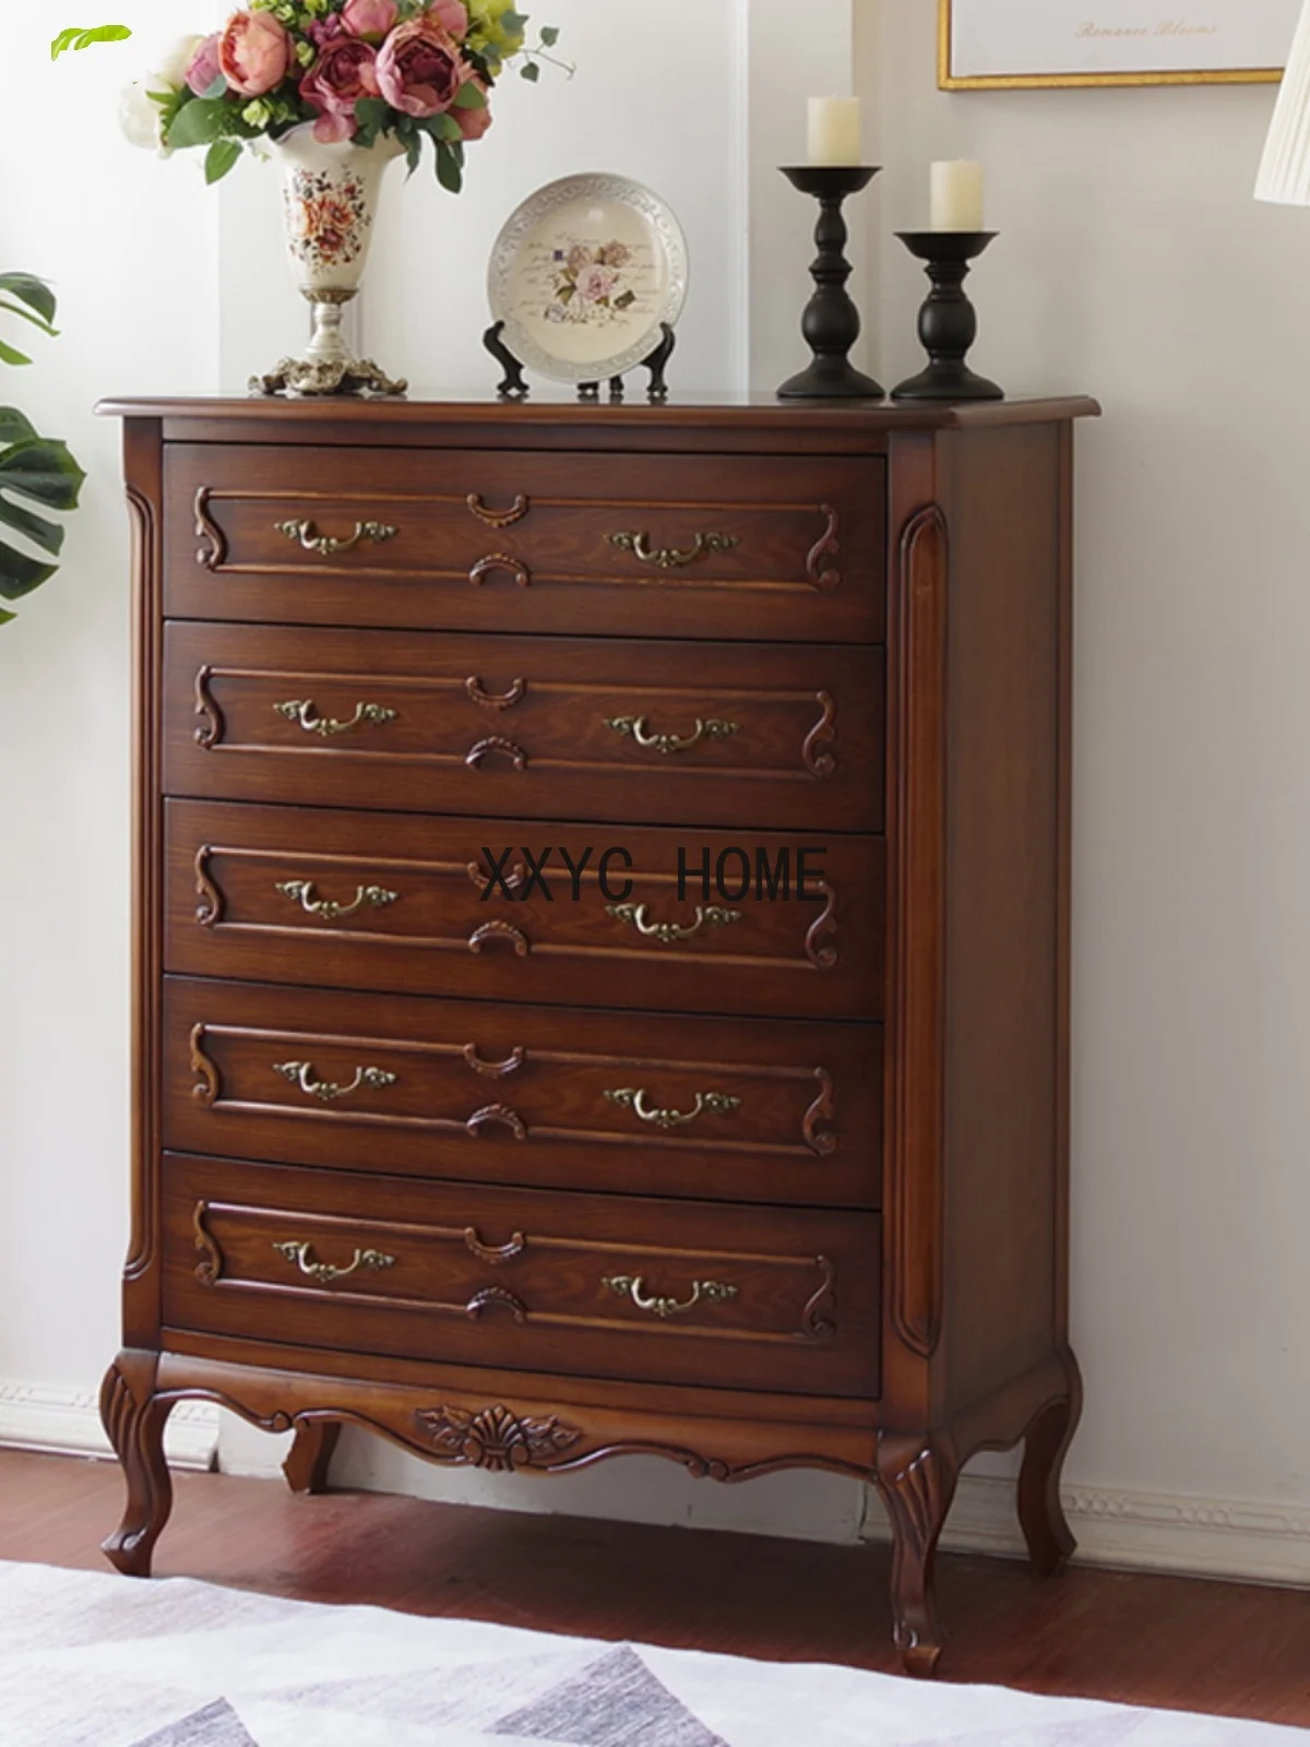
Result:
{"label": "white moulded baseboard at right, behind the chest's right legs", "polygon": [[[1310,1585],[1310,1504],[1254,1504],[1079,1485],[1065,1487],[1062,1497],[1078,1541],[1074,1564],[1172,1571],[1237,1583]],[[870,1497],[865,1536],[870,1541],[887,1539],[877,1497]],[[964,1474],[941,1548],[1022,1558],[1015,1481]]]}

